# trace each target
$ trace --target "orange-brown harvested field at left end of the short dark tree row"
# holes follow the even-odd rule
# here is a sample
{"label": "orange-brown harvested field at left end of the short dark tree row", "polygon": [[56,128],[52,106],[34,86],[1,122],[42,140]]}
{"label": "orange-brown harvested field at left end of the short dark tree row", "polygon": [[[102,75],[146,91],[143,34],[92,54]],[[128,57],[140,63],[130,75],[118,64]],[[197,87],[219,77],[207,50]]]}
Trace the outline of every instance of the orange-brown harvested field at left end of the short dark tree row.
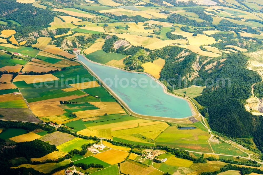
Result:
{"label": "orange-brown harvested field at left end of the short dark tree row", "polygon": [[34,115],[38,117],[63,115],[64,110],[58,105],[60,105],[58,101],[49,101],[49,102],[29,105],[29,107],[34,113]]}

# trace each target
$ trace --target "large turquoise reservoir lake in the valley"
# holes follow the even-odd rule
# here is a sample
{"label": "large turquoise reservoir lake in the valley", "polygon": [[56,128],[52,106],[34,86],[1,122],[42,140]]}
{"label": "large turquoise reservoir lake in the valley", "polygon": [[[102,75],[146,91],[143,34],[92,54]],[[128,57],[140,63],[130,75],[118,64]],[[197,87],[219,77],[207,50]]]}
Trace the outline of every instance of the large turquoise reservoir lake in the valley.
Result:
{"label": "large turquoise reservoir lake in the valley", "polygon": [[137,114],[178,119],[193,115],[186,100],[164,92],[164,87],[149,75],[100,65],[82,55],[78,55],[78,60]]}

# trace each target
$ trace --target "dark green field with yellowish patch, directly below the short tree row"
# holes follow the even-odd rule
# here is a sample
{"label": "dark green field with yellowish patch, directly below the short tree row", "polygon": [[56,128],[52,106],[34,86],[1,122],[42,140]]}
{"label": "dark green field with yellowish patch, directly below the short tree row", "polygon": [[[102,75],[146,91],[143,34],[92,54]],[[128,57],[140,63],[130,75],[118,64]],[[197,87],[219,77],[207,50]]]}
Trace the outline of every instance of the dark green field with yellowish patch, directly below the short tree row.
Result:
{"label": "dark green field with yellowish patch, directly below the short tree row", "polygon": [[65,104],[65,105],[59,105],[59,106],[67,112],[78,112],[78,111],[99,109],[98,107],[88,102],[77,103],[77,104]]}

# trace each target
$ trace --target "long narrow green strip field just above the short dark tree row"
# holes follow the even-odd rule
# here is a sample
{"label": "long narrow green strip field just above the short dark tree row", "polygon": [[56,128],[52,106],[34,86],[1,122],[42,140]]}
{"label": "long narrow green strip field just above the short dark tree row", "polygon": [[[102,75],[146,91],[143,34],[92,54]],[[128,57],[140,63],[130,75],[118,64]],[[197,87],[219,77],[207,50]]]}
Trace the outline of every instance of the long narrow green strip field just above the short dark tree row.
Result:
{"label": "long narrow green strip field just above the short dark tree row", "polygon": [[60,94],[55,94],[55,95],[48,95],[48,96],[43,96],[43,97],[37,97],[37,98],[31,98],[31,99],[26,99],[28,103],[35,102],[35,101],[42,101],[42,100],[48,100],[48,99],[53,99],[53,98],[59,98],[59,97],[66,97],[70,95],[84,95],[85,93],[80,91],[80,90],[75,90],[71,92],[63,92]]}

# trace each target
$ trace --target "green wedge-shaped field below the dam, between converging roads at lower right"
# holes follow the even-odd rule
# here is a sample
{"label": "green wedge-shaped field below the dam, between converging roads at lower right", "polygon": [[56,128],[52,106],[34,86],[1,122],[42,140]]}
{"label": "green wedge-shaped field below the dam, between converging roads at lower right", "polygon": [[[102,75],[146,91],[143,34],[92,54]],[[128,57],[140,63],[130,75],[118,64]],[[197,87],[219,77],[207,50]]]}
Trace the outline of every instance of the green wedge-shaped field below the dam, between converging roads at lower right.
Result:
{"label": "green wedge-shaped field below the dam, between converging roads at lower right", "polygon": [[244,156],[244,157],[247,156],[246,153],[240,151],[239,149],[235,148],[234,146],[226,142],[222,142],[222,141],[220,143],[210,142],[210,144],[214,152],[218,154]]}

